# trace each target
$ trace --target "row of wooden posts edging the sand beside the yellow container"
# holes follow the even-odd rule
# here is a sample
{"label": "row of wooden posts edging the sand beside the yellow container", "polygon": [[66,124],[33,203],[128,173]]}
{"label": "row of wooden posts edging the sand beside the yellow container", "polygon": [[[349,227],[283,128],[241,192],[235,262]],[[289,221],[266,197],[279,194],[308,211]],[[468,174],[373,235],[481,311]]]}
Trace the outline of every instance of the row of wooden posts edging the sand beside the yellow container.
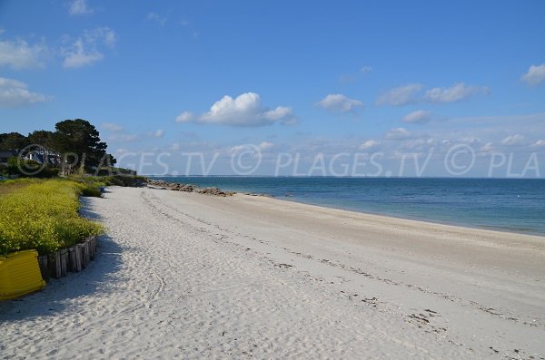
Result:
{"label": "row of wooden posts edging the sand beside the yellow container", "polygon": [[50,277],[65,277],[67,272],[79,272],[87,268],[90,261],[94,260],[98,242],[96,237],[87,238],[83,243],[71,248],[61,248],[52,254],[38,257],[42,277],[48,280]]}

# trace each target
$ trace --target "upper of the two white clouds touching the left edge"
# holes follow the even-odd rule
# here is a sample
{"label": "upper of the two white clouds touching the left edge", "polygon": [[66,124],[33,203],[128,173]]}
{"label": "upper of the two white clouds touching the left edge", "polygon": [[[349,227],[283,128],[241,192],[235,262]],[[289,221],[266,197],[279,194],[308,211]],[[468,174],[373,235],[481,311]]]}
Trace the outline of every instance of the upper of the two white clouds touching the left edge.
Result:
{"label": "upper of the two white clouds touching the left edge", "polygon": [[25,40],[0,41],[0,66],[8,65],[14,70],[43,67],[46,53],[44,42],[29,45]]}

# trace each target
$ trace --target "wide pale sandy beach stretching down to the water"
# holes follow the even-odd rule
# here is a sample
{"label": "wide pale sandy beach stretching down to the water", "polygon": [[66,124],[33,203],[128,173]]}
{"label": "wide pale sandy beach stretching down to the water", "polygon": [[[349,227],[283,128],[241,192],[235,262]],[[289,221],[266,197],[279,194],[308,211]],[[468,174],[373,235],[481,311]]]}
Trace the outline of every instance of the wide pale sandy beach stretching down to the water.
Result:
{"label": "wide pale sandy beach stretching down to the water", "polygon": [[84,272],[0,303],[0,358],[543,358],[545,238],[110,188]]}

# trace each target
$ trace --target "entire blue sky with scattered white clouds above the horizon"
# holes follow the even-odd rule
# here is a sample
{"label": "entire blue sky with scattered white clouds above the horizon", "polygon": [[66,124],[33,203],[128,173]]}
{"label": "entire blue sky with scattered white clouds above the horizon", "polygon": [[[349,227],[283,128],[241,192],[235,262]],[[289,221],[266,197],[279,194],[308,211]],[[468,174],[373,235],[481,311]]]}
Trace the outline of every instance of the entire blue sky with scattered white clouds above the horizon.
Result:
{"label": "entire blue sky with scattered white clouds above the horizon", "polygon": [[[213,174],[259,159],[252,174],[290,175],[291,156],[297,174],[357,157],[356,175],[544,177],[543,14],[542,1],[4,0],[0,131],[83,118],[144,173],[202,173],[187,164],[200,152]],[[452,154],[471,169],[445,166]]]}

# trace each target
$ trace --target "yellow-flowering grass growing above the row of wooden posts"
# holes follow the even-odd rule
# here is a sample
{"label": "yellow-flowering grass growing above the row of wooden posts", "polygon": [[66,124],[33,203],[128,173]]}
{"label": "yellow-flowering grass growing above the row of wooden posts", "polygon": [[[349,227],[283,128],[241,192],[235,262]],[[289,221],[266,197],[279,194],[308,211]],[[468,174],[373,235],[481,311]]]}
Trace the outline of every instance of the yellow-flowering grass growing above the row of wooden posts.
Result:
{"label": "yellow-flowering grass growing above the row of wooden posts", "polygon": [[95,186],[73,180],[15,180],[0,185],[0,255],[35,248],[41,255],[98,235],[102,227],[78,214],[79,196]]}

